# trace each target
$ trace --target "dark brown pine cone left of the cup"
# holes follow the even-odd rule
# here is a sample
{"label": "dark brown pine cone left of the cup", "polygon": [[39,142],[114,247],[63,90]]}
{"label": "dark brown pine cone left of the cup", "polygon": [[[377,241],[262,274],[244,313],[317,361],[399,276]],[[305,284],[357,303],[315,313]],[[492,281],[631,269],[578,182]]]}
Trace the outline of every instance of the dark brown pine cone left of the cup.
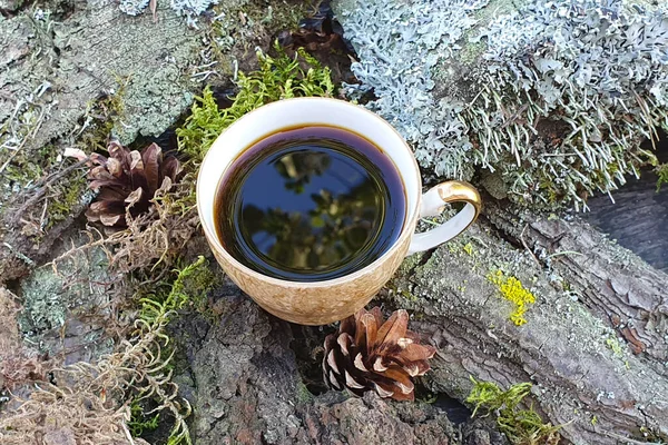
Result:
{"label": "dark brown pine cone left of the cup", "polygon": [[98,154],[90,156],[95,167],[88,172],[88,188],[99,189],[99,194],[86,217],[105,226],[125,227],[126,208],[132,216],[146,212],[156,191],[169,190],[181,167],[174,156],[163,159],[163,149],[157,144],[139,154],[111,140],[107,150],[109,158]]}

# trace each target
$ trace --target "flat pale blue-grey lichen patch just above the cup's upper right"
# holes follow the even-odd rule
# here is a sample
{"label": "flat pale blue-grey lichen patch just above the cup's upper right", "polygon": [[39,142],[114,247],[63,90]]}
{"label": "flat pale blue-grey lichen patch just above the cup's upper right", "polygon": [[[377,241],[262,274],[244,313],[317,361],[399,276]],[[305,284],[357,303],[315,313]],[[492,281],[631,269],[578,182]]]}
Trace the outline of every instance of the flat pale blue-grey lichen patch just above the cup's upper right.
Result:
{"label": "flat pale blue-grey lichen patch just above the cup's upper right", "polygon": [[[458,119],[462,105],[430,91],[431,70],[441,57],[456,51],[456,41],[475,23],[472,11],[485,0],[438,0],[387,4],[356,0],[338,4],[346,37],[360,61],[352,70],[362,86],[346,86],[350,95],[373,88],[377,100],[369,103],[416,147],[418,160],[448,177],[471,176],[466,127]],[[445,161],[442,152],[450,155]]]}

